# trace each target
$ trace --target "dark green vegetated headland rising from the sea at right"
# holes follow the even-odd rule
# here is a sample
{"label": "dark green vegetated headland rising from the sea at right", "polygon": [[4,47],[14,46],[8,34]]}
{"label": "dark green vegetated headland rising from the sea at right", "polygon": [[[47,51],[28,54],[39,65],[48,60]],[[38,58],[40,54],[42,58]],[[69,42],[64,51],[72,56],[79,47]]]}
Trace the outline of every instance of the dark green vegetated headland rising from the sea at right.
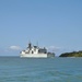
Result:
{"label": "dark green vegetated headland rising from the sea at right", "polygon": [[72,51],[61,54],[59,57],[82,57],[82,51]]}

